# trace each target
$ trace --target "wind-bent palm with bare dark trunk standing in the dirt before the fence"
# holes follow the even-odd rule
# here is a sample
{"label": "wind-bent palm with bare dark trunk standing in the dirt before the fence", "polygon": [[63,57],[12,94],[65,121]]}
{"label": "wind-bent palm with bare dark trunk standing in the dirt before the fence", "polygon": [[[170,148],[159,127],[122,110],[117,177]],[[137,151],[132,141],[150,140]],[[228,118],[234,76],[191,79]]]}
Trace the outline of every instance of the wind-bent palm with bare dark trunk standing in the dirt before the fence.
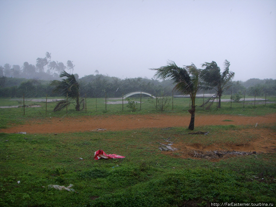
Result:
{"label": "wind-bent palm with bare dark trunk standing in the dirt before the fence", "polygon": [[190,95],[192,106],[189,110],[191,121],[188,128],[194,130],[195,98],[199,89],[200,70],[193,63],[182,68],[178,67],[173,61],[168,62],[166,66],[151,70],[157,71],[154,75],[157,79],[171,79],[175,84],[175,90],[178,90],[182,94]]}

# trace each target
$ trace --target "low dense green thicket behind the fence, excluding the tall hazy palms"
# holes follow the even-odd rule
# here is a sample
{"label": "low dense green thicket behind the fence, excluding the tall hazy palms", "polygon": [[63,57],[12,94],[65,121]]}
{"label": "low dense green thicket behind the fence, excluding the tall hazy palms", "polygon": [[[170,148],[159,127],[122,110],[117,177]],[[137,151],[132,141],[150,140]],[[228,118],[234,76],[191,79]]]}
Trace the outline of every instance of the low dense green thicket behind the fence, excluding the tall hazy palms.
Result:
{"label": "low dense green thicket behind the fence, excluding the tall hazy palms", "polygon": [[[75,75],[78,77],[78,75]],[[105,97],[115,98],[121,97],[123,94],[128,94],[136,91],[143,91],[152,95],[172,95],[173,85],[171,80],[164,80],[162,82],[154,79],[144,78],[127,78],[119,79],[117,77],[109,77],[106,75],[87,75],[78,79],[80,84],[81,97],[100,98]],[[0,77],[0,97],[45,97],[60,96],[60,94],[52,93],[53,86],[50,85],[51,81],[40,79],[25,79],[25,78],[12,78],[2,76]],[[276,95],[276,80],[274,79],[249,79],[243,81],[229,82],[228,90],[224,90],[223,94],[244,93],[246,90],[247,95],[268,96]],[[199,91],[198,94],[203,93]],[[215,90],[207,91],[205,93],[215,94]],[[174,95],[180,95],[174,91]]]}

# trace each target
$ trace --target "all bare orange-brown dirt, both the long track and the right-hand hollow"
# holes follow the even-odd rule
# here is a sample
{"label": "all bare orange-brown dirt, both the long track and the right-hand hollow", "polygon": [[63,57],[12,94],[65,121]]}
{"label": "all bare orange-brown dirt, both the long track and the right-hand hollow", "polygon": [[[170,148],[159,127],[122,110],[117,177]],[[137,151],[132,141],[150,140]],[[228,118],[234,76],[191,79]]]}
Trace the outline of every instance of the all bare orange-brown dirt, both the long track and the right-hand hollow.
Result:
{"label": "all bare orange-brown dirt, both the long track and the right-hand hollow", "polygon": [[[232,121],[224,121],[232,120]],[[10,128],[0,129],[0,132],[16,133],[26,132],[31,133],[61,133],[61,132],[86,132],[105,128],[108,131],[117,131],[136,128],[166,128],[166,127],[182,127],[188,126],[190,116],[176,115],[114,115],[109,117],[49,117],[43,120],[30,121],[25,125],[15,125]],[[243,115],[196,115],[195,130],[197,126],[205,125],[252,125],[276,123],[276,114],[270,114],[259,117],[247,117]],[[216,144],[202,146],[200,144],[186,145],[185,143],[174,143],[172,147],[179,148],[178,156],[189,157],[191,151],[210,151],[210,150],[235,150],[235,151],[256,151],[256,152],[275,152],[276,135],[275,132],[267,128],[247,128],[236,131],[237,136],[244,133],[257,136],[254,142],[243,145],[224,145]],[[202,135],[205,136],[205,135]],[[208,136],[208,135],[207,135]],[[164,152],[174,155],[172,151]]]}

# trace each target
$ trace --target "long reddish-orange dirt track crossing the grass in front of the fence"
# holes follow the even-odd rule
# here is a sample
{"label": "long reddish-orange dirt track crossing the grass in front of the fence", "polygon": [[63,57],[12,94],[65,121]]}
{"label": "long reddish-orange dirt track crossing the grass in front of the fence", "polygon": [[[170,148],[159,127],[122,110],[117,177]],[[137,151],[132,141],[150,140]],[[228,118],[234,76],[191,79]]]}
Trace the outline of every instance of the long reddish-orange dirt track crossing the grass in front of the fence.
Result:
{"label": "long reddish-orange dirt track crossing the grass in front of the fence", "polygon": [[[231,120],[231,121],[225,121]],[[195,130],[202,125],[256,125],[275,123],[276,114],[261,117],[247,117],[243,115],[212,115],[195,117]],[[109,117],[49,117],[39,122],[37,120],[25,125],[16,125],[0,132],[15,133],[60,133],[60,132],[85,132],[98,128],[110,131],[135,129],[135,128],[163,128],[163,127],[188,127],[190,116],[176,115],[117,115]]]}

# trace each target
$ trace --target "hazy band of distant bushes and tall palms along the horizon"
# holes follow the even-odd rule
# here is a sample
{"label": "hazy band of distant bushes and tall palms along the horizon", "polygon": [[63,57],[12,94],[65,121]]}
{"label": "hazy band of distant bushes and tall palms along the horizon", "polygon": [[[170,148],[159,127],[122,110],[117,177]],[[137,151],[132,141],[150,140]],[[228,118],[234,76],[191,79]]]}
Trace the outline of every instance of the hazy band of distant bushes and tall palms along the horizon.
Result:
{"label": "hazy band of distant bushes and tall palms along the horizon", "polygon": [[[51,86],[52,80],[60,80],[59,75],[68,70],[70,74],[74,73],[73,61],[68,60],[66,65],[62,62],[52,61],[51,53],[46,52],[44,58],[37,58],[36,65],[24,62],[22,67],[19,65],[11,66],[6,63],[0,66],[0,97],[45,97],[60,96],[61,94],[53,93],[54,86]],[[213,62],[212,62],[213,63]],[[212,63],[206,63],[204,70],[213,69]],[[214,62],[215,63],[215,62]],[[210,66],[210,67],[209,67]],[[214,71],[220,71],[216,67]],[[204,71],[203,70],[203,71]],[[231,72],[231,71],[230,71]],[[155,79],[146,78],[126,78],[119,79],[117,77],[109,77],[108,75],[99,74],[87,75],[79,79],[78,74],[74,74],[80,86],[80,96],[90,98],[105,97],[121,97],[135,91],[143,91],[152,95],[171,96],[174,88],[171,80],[163,80],[162,82]],[[219,74],[219,73],[217,73]],[[223,75],[223,74],[222,74]],[[206,76],[207,77],[207,76]],[[209,80],[205,80],[208,82]],[[212,88],[212,87],[210,87]],[[249,79],[243,81],[228,81],[222,89],[224,95],[244,93],[254,96],[274,96],[276,95],[276,80],[274,79]],[[219,88],[213,87],[212,90],[205,93],[217,94],[221,92]],[[202,91],[198,91],[203,93]],[[175,91],[174,95],[181,95]]]}

